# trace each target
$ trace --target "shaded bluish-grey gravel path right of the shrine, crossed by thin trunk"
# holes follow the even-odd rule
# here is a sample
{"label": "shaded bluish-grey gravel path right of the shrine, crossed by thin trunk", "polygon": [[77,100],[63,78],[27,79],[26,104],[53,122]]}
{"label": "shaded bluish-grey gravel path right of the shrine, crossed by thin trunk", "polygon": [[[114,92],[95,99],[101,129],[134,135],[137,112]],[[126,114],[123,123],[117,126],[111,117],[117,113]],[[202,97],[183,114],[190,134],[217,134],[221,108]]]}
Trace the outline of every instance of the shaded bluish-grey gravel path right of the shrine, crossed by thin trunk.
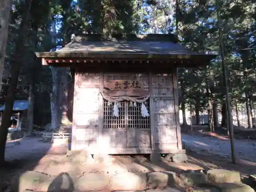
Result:
{"label": "shaded bluish-grey gravel path right of the shrine, crossed by thin trunk", "polygon": [[[202,137],[199,135],[182,134],[183,143],[197,153],[218,154],[222,157],[231,156],[230,141],[221,140],[216,137]],[[256,162],[256,141],[255,140],[234,140],[234,146],[239,159]]]}

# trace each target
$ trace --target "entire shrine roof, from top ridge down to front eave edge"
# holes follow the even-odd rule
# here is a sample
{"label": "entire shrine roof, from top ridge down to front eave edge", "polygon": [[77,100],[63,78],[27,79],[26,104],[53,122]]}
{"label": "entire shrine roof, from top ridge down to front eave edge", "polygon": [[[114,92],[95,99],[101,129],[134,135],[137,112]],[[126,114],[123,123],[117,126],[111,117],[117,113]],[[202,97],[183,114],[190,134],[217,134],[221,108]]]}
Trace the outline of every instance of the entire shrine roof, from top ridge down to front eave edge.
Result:
{"label": "entire shrine roof, from top ridge down to front eave edge", "polygon": [[177,43],[173,35],[113,35],[99,34],[76,36],[60,50],[35,53],[41,58],[97,58],[97,59],[168,59],[207,57],[216,55],[192,52]]}

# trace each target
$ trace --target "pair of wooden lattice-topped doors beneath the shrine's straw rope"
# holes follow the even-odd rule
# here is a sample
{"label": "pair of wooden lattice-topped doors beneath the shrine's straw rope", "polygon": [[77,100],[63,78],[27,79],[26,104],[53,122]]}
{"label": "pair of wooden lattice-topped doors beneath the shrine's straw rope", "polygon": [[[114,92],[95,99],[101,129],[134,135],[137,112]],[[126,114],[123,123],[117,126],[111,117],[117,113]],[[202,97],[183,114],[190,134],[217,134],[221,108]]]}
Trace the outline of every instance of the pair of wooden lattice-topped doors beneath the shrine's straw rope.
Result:
{"label": "pair of wooden lattice-topped doors beneath the shrine's straw rope", "polygon": [[[106,100],[103,102],[103,132],[109,134],[112,146],[150,147],[150,118],[141,116],[141,104],[130,106],[128,101],[122,101],[120,104],[119,116],[114,117],[113,104],[109,105]],[[144,104],[149,112],[149,100]]]}

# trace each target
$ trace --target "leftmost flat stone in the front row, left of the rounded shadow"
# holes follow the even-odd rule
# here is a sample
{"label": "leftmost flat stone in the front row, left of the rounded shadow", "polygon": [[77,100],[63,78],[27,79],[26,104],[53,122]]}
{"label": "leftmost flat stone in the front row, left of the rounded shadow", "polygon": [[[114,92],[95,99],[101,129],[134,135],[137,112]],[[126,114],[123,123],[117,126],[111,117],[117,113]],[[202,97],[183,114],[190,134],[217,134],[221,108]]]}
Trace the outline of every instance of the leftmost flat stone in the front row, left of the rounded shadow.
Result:
{"label": "leftmost flat stone in the front row, left of the rounded shadow", "polygon": [[25,189],[40,189],[41,191],[47,191],[48,187],[52,183],[52,180],[53,179],[50,175],[40,172],[28,171],[19,177],[18,191],[23,191]]}

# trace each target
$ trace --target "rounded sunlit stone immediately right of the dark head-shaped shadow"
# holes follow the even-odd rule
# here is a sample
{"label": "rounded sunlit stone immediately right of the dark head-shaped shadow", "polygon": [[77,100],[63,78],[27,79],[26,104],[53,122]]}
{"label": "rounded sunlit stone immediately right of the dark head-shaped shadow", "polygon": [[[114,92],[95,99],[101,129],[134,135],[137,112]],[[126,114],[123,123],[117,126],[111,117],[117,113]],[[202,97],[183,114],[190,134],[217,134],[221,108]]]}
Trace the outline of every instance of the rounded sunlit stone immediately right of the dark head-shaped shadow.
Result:
{"label": "rounded sunlit stone immediately right of the dark head-shaped shadow", "polygon": [[109,184],[109,177],[100,173],[89,173],[77,179],[75,188],[81,191],[102,190]]}

